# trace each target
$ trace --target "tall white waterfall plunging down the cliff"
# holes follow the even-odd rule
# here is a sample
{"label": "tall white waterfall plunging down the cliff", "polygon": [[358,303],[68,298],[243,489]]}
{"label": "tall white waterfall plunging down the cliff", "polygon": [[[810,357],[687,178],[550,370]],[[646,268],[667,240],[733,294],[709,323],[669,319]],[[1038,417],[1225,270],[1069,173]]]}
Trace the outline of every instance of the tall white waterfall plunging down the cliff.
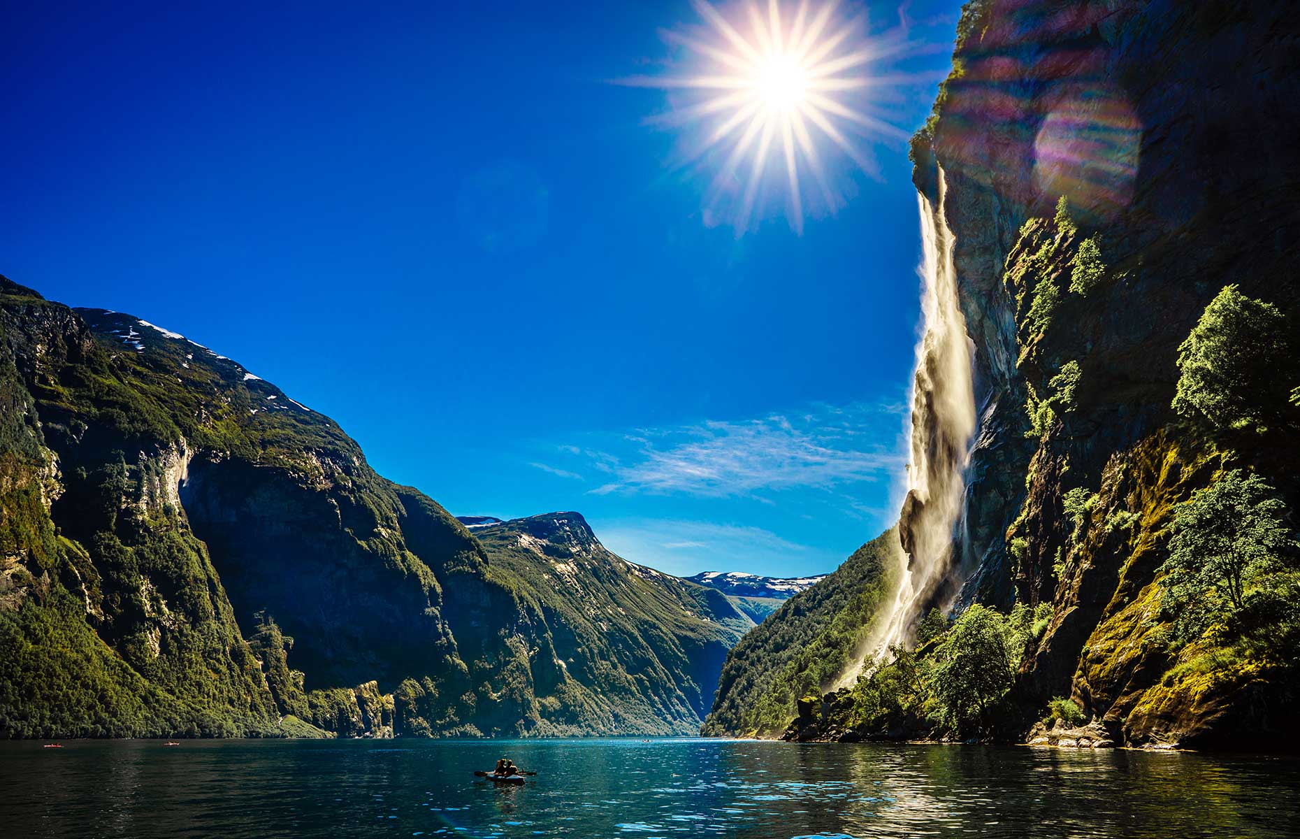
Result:
{"label": "tall white waterfall plunging down the cliff", "polygon": [[852,659],[854,665],[833,687],[849,687],[864,658],[910,641],[920,610],[950,606],[956,596],[954,545],[963,519],[966,467],[975,436],[975,389],[966,317],[957,297],[953,232],[944,217],[948,186],[939,170],[939,200],[918,195],[924,258],[922,312],[924,330],[916,345],[911,389],[911,460],[907,497],[898,520],[898,588]]}

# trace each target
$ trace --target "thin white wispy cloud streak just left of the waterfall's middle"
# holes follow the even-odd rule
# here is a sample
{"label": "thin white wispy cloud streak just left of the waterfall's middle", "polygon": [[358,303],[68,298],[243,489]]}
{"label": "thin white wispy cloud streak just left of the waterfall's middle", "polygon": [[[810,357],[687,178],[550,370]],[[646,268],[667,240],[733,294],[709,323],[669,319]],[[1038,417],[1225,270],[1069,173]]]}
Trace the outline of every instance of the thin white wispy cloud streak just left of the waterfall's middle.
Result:
{"label": "thin white wispy cloud streak just left of the waterfall's middle", "polygon": [[[904,458],[893,441],[902,406],[815,406],[745,421],[642,429],[621,459],[597,451],[611,480],[593,493],[685,493],[722,498],[792,488],[832,489],[888,479]],[[890,445],[879,441],[887,440]],[[593,457],[592,450],[580,450]]]}

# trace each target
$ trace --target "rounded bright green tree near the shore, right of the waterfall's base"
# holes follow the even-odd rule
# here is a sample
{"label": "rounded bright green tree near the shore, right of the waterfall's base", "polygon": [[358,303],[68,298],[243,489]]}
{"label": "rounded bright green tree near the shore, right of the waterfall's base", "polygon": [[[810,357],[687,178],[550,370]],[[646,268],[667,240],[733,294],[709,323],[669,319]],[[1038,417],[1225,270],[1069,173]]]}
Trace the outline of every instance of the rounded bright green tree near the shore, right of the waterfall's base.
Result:
{"label": "rounded bright green tree near the shore, right of the waterfall's base", "polygon": [[979,726],[1011,687],[1008,635],[1006,619],[979,604],[948,631],[930,678],[941,725],[958,732]]}

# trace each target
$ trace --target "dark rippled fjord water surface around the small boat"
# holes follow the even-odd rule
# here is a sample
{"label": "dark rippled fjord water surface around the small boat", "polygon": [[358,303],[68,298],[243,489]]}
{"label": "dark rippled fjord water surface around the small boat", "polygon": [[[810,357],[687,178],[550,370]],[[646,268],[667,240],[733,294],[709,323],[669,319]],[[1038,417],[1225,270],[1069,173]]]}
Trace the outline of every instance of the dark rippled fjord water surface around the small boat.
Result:
{"label": "dark rippled fjord water surface around the small boat", "polygon": [[[478,780],[507,754],[537,778]],[[1284,836],[1300,762],[732,740],[0,743],[3,836]]]}

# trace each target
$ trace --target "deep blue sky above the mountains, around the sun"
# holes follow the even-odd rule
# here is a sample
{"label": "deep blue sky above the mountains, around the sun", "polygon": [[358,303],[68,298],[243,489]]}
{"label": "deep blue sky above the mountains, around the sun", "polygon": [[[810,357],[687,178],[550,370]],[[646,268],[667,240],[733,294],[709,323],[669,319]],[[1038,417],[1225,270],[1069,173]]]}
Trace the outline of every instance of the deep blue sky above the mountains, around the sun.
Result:
{"label": "deep blue sky above the mountains, around the sun", "polygon": [[[8,10],[0,273],[239,360],[455,514],[578,510],[679,574],[828,571],[888,527],[902,142],[802,234],[737,234],[671,98],[614,83],[672,72],[686,1],[186,5]],[[906,133],[958,7],[848,4],[906,23],[872,92]]]}

